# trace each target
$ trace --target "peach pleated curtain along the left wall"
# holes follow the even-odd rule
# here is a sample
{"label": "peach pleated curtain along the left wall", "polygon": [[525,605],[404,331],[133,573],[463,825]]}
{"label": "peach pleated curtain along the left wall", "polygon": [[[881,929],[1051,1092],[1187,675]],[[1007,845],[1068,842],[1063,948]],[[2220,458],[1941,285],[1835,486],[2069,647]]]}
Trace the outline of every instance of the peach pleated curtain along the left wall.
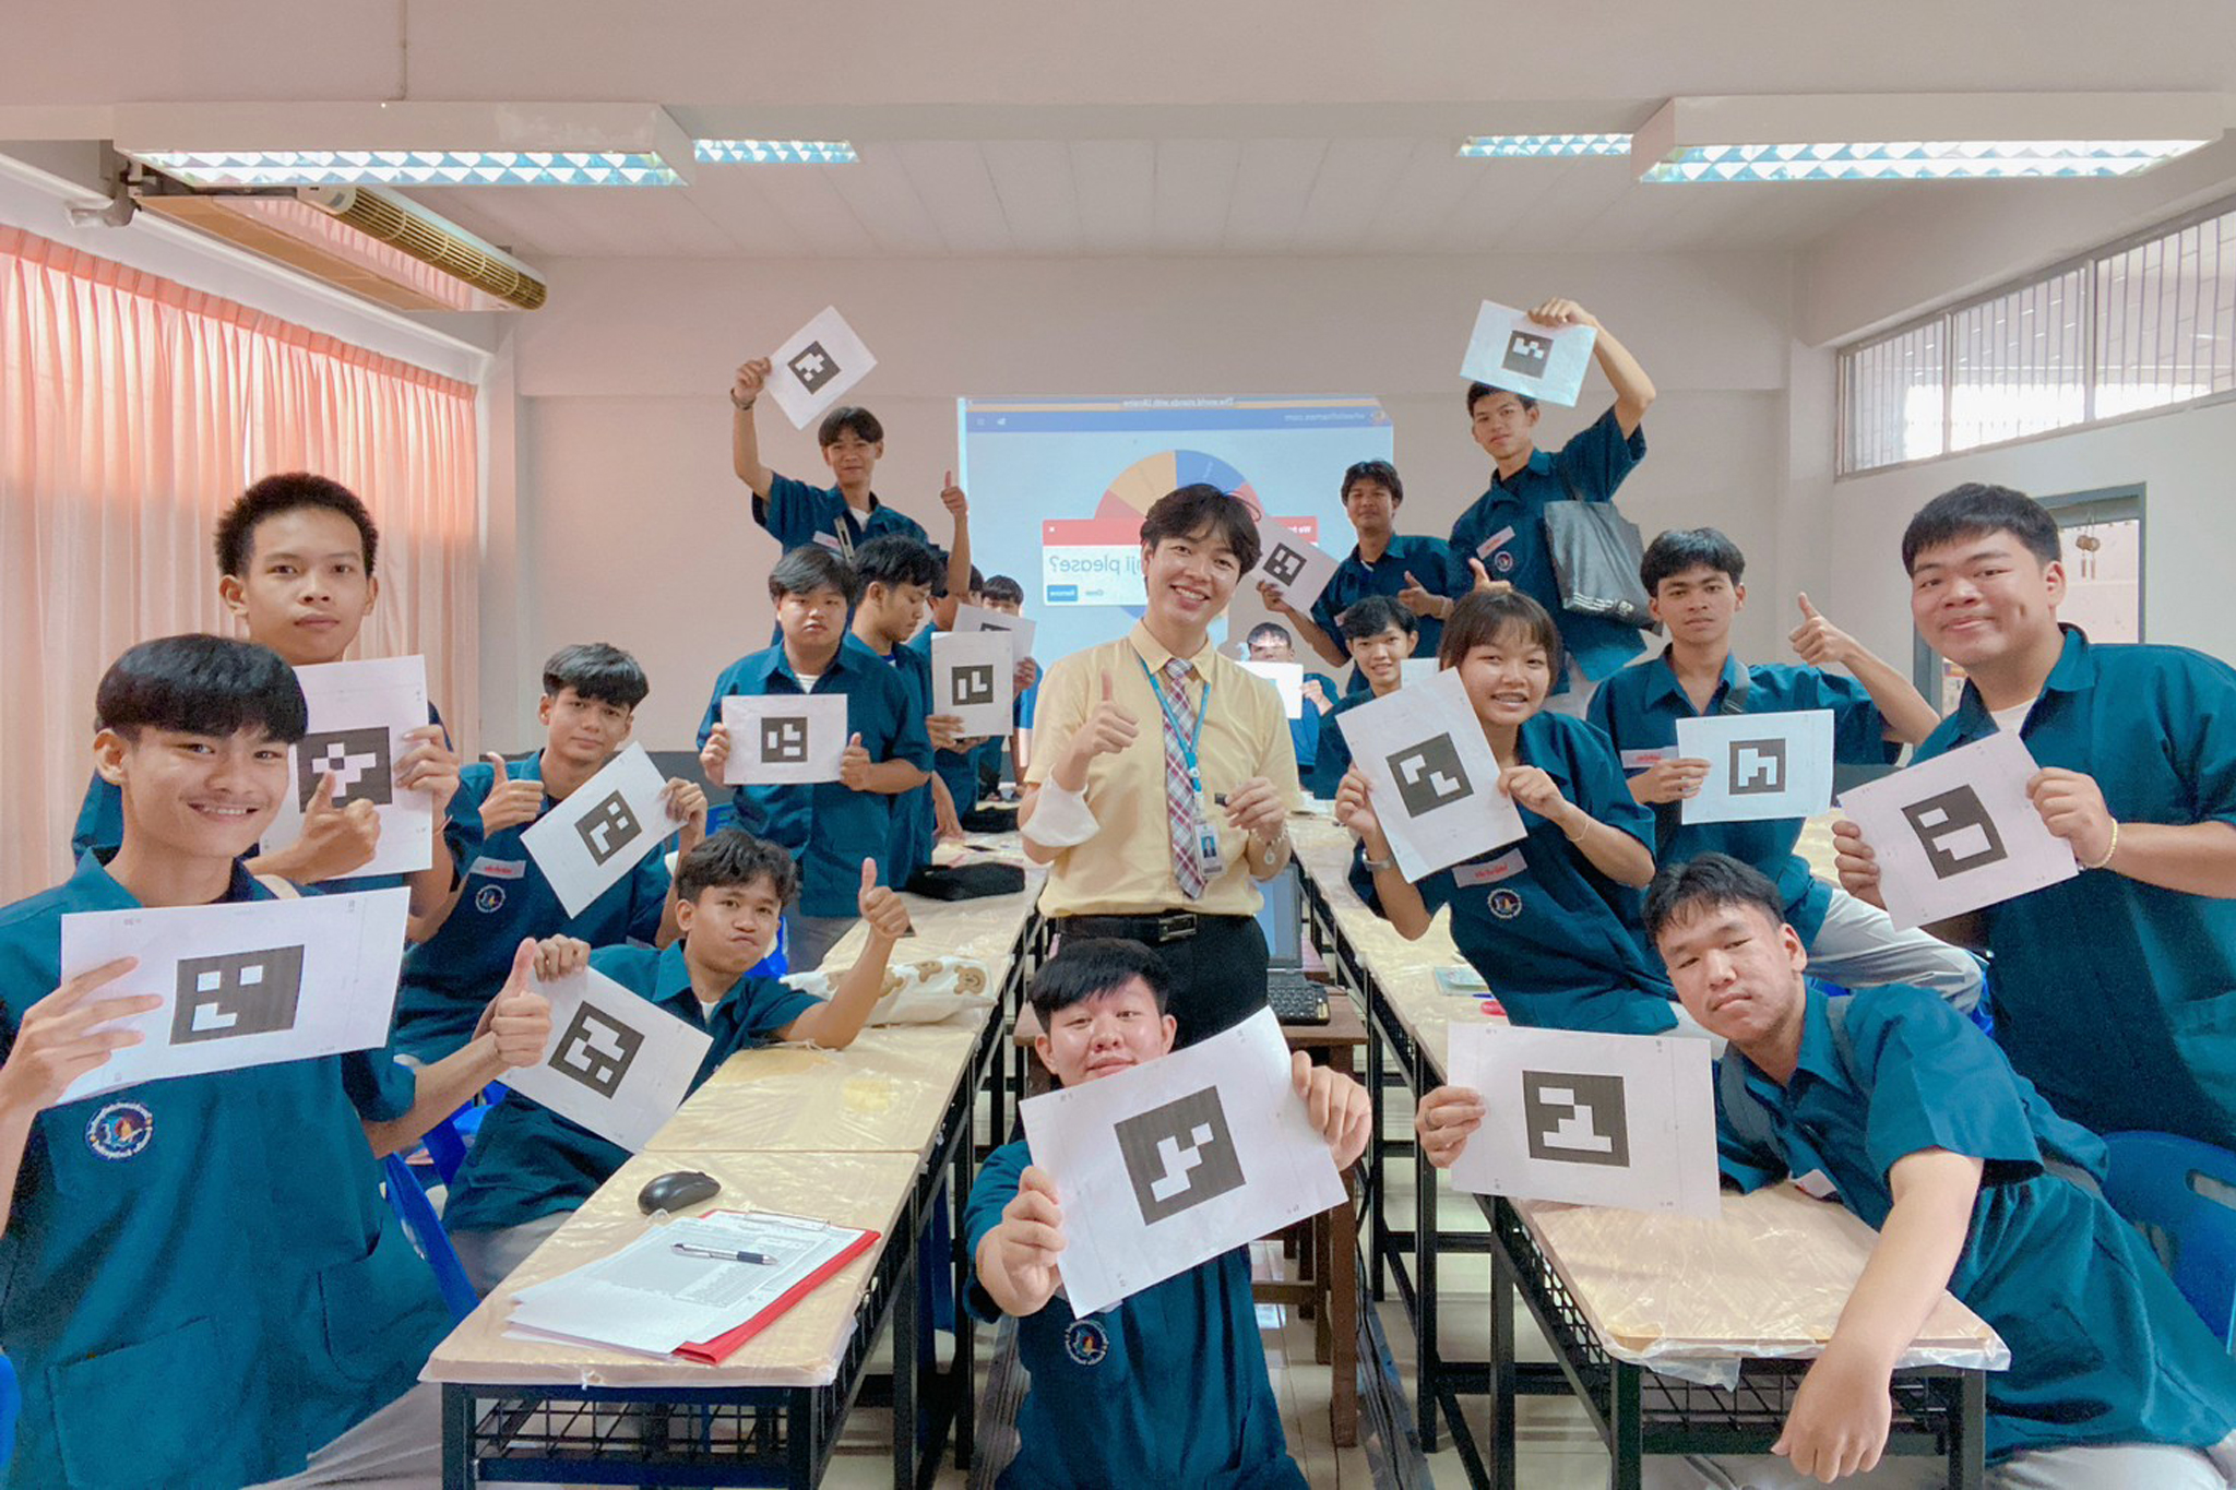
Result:
{"label": "peach pleated curtain along the left wall", "polygon": [[0,226],[0,900],[69,871],[103,668],[237,634],[210,534],[273,471],[364,498],[380,603],[358,652],[423,652],[436,706],[470,708],[474,389]]}

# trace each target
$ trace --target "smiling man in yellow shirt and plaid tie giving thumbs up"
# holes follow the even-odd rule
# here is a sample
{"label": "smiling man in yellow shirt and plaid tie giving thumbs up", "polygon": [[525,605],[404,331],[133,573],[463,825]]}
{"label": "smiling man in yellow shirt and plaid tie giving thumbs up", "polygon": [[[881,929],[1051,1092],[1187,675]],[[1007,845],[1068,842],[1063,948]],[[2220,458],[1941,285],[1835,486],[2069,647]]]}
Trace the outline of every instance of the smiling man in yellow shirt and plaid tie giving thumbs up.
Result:
{"label": "smiling man in yellow shirt and plaid tie giving thumbs up", "polygon": [[1183,1045],[1266,1007],[1257,882],[1290,853],[1288,717],[1210,639],[1257,556],[1257,520],[1219,487],[1149,507],[1147,612],[1049,668],[1017,809],[1026,858],[1049,865],[1040,911],[1058,936],[1156,947]]}

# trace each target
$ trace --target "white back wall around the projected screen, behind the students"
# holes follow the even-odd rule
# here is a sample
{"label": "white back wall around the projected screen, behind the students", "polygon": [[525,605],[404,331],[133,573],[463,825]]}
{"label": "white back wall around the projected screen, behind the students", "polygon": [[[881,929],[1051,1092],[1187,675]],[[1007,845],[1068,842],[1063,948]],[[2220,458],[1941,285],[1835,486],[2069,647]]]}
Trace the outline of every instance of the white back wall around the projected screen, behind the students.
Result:
{"label": "white back wall around the projected screen, behind the students", "polygon": [[[731,369],[825,304],[879,355],[861,389],[888,431],[879,494],[946,532],[955,398],[999,393],[1371,393],[1398,424],[1406,525],[1442,534],[1485,487],[1456,366],[1482,297],[1574,295],[1661,386],[1623,507],[1648,532],[1717,523],[1775,567],[1789,469],[1784,255],[1561,259],[557,261],[517,331],[521,637],[494,628],[483,677],[514,677],[530,744],[534,668],[566,641],[642,657],[639,737],[680,746],[718,668],[765,643],[774,543],[729,471]],[[1545,411],[1565,438],[1605,407]],[[821,469],[814,438],[762,411],[765,456]],[[1337,471],[1328,471],[1333,483]],[[977,525],[1038,514],[973,512]],[[503,554],[492,534],[492,563]],[[615,576],[628,576],[617,581]],[[1762,608],[1740,646],[1769,657]],[[1239,612],[1241,614],[1241,612]],[[492,681],[485,697],[496,697]]]}

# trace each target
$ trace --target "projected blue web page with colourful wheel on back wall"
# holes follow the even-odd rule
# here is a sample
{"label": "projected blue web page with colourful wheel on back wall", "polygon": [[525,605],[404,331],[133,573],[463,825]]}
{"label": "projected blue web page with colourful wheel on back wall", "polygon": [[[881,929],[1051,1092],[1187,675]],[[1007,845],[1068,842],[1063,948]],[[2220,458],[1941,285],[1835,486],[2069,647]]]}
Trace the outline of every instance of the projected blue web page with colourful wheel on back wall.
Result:
{"label": "projected blue web page with colourful wheel on back wall", "polygon": [[1140,614],[1140,518],[1174,487],[1234,491],[1342,558],[1344,467],[1391,458],[1373,398],[966,398],[959,418],[970,556],[1024,588],[1042,663]]}

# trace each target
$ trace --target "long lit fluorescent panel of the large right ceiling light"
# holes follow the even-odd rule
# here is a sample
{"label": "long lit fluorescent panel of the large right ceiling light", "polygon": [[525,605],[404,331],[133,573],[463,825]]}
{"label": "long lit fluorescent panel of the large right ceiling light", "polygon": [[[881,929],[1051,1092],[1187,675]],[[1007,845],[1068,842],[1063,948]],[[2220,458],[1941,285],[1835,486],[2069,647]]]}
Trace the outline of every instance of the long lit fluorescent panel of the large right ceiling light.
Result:
{"label": "long lit fluorescent panel of the large right ceiling light", "polygon": [[1684,145],[1639,181],[1999,181],[2131,176],[2209,141],[1856,141]]}

